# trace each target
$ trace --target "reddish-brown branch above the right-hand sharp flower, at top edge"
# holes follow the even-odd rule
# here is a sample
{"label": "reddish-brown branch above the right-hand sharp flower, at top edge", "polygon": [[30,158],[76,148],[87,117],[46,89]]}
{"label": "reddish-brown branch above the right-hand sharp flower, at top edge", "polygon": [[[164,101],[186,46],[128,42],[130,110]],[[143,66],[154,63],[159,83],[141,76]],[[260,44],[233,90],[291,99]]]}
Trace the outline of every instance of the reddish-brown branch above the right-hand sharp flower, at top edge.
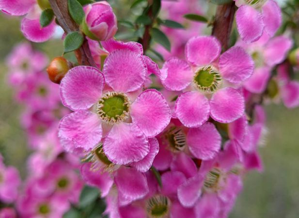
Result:
{"label": "reddish-brown branch above the right-hand sharp flower, at top edge", "polygon": [[235,12],[235,1],[229,4],[219,5],[216,9],[212,35],[218,38],[224,50],[228,48]]}

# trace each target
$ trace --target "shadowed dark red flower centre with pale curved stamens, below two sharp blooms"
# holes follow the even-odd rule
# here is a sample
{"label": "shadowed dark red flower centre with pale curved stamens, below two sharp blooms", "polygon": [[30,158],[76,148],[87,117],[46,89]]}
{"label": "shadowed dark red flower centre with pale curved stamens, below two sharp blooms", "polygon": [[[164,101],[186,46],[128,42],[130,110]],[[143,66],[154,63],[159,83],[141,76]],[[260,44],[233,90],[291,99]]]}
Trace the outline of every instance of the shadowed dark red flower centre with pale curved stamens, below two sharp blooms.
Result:
{"label": "shadowed dark red flower centre with pale curved stamens, below two sharp blooms", "polygon": [[181,151],[186,145],[186,134],[181,128],[172,126],[165,132],[165,139],[170,147],[176,151]]}

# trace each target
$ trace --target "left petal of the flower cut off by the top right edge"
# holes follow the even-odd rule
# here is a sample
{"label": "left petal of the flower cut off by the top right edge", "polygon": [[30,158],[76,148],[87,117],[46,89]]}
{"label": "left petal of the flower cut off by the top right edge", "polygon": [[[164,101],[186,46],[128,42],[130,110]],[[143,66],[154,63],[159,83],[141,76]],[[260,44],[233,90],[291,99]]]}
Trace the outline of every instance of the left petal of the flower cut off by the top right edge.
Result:
{"label": "left petal of the flower cut off by the top right edge", "polygon": [[252,43],[263,34],[263,17],[253,7],[242,5],[236,11],[236,27],[241,39],[246,43]]}

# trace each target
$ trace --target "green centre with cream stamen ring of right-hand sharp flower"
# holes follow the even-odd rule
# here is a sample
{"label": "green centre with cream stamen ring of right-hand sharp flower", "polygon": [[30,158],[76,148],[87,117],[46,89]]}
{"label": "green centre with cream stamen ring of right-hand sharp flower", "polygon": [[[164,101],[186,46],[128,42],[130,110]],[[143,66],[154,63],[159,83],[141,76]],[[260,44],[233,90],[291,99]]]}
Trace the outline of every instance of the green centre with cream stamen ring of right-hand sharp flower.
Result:
{"label": "green centre with cream stamen ring of right-hand sharp flower", "polygon": [[214,92],[218,89],[221,83],[219,72],[213,66],[205,66],[199,68],[193,78],[193,81],[201,91]]}

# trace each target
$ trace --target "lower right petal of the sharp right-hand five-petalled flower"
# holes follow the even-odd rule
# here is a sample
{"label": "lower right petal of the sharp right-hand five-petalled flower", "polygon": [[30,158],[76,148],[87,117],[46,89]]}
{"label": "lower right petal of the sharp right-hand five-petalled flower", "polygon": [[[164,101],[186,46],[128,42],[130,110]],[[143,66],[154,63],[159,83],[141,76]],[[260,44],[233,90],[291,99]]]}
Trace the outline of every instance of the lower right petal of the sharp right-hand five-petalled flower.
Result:
{"label": "lower right petal of the sharp right-hand five-petalled flower", "polygon": [[244,114],[244,97],[233,88],[224,88],[210,100],[211,117],[220,123],[231,123]]}

